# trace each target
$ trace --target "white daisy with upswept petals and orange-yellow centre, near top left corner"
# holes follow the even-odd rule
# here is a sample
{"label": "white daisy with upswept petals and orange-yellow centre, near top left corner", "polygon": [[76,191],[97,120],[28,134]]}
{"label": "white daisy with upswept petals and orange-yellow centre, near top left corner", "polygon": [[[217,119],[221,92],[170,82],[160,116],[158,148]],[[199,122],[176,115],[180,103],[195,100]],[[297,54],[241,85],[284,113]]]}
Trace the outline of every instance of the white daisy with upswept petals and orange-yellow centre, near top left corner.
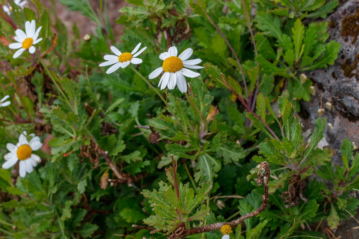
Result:
{"label": "white daisy with upswept petals and orange-yellow centre, near top left corner", "polygon": [[36,49],[33,45],[35,45],[36,43],[42,40],[42,38],[37,39],[41,28],[42,27],[39,27],[35,31],[36,29],[35,20],[32,20],[31,23],[30,21],[25,22],[26,33],[24,33],[24,31],[21,29],[16,29],[15,31],[16,36],[14,37],[14,39],[17,42],[9,44],[10,49],[18,49],[18,51],[15,52],[13,58],[18,58],[23,53],[23,51],[27,49],[31,54],[35,52]]}

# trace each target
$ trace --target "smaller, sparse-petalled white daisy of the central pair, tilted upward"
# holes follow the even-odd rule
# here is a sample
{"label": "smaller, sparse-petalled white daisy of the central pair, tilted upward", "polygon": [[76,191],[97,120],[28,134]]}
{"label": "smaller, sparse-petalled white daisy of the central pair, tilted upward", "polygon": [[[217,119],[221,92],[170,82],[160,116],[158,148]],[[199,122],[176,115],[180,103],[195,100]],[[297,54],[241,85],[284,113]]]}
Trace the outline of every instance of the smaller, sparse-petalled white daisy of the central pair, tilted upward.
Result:
{"label": "smaller, sparse-petalled white daisy of the central pair, tilted upward", "polygon": [[142,63],[142,60],[140,58],[136,58],[136,56],[141,54],[147,48],[147,47],[144,47],[139,52],[137,52],[137,50],[140,48],[140,46],[141,46],[141,42],[137,44],[137,46],[131,53],[129,53],[129,52],[121,53],[116,47],[112,46],[111,51],[113,53],[115,53],[116,56],[114,56],[114,55],[104,56],[103,58],[106,60],[106,62],[99,64],[99,66],[109,66],[109,65],[114,64],[113,66],[108,68],[108,70],[106,71],[106,73],[109,74],[109,73],[116,71],[120,67],[125,68],[126,66],[128,66],[130,64],[130,62],[132,64],[140,64],[140,63]]}

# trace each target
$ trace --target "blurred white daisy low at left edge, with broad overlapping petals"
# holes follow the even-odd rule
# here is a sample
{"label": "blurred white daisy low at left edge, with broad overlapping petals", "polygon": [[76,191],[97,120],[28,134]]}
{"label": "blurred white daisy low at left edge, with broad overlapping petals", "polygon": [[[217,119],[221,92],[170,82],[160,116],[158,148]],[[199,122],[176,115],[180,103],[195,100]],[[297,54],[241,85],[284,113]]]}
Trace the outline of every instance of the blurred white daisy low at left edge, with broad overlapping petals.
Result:
{"label": "blurred white daisy low at left edge, with broad overlapping petals", "polygon": [[5,169],[11,168],[19,160],[20,177],[25,177],[26,173],[31,173],[34,170],[34,167],[41,162],[41,159],[32,152],[40,149],[42,147],[42,143],[40,138],[35,136],[35,134],[30,134],[30,136],[32,136],[32,139],[28,142],[26,139],[26,132],[24,131],[20,134],[19,143],[16,145],[12,143],[6,144],[6,148],[10,151],[10,153],[4,155],[6,162],[3,163],[3,166],[1,167]]}

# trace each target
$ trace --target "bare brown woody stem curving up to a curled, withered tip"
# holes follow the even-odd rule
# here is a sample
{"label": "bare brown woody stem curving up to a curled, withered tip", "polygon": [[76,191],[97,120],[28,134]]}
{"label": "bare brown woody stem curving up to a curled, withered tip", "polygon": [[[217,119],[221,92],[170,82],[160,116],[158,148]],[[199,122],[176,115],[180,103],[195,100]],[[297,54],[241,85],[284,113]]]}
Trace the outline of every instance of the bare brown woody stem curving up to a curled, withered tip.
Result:
{"label": "bare brown woody stem curving up to a curled, withered tip", "polygon": [[[261,170],[262,170],[262,172],[261,172]],[[169,238],[177,238],[179,236],[182,238],[184,236],[188,236],[191,234],[199,234],[199,233],[219,230],[223,225],[230,225],[230,226],[234,227],[234,226],[237,226],[238,224],[242,223],[242,221],[244,221],[245,219],[251,218],[253,216],[260,214],[262,211],[264,211],[266,209],[267,204],[268,204],[268,179],[270,176],[270,168],[269,168],[269,164],[267,162],[261,162],[261,167],[258,170],[257,175],[258,175],[258,178],[255,179],[257,184],[258,185],[264,184],[264,195],[262,196],[263,202],[262,202],[262,205],[260,207],[258,207],[258,209],[256,209],[255,211],[252,211],[250,213],[244,214],[240,218],[230,221],[230,222],[213,223],[213,224],[209,224],[206,226],[199,226],[199,227],[192,228],[192,229],[184,229],[181,234],[176,234],[175,237],[171,234],[171,235],[169,235]],[[132,225],[132,227],[140,228],[140,229],[148,229],[148,230],[151,230],[151,233],[157,232],[157,230],[155,230],[154,228],[149,227],[149,226]]]}

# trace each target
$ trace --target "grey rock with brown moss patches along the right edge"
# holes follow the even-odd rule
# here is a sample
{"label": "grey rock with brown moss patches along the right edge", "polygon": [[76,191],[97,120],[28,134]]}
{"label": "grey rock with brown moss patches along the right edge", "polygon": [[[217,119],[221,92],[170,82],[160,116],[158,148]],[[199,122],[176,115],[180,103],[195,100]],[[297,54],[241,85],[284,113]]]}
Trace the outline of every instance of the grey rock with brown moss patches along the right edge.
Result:
{"label": "grey rock with brown moss patches along the right edge", "polygon": [[[348,22],[353,19],[354,22],[359,19],[358,0],[347,1],[324,19],[329,26],[328,40],[334,39],[341,43],[341,48],[332,66],[308,72],[307,76],[312,80],[317,95],[312,96],[309,102],[301,102],[301,122],[304,125],[303,132],[306,132],[314,129],[322,98],[322,108],[326,110],[322,117],[332,124],[331,128],[326,126],[324,138],[337,152],[345,138],[359,145],[359,40],[355,37],[355,34],[358,35],[359,22],[351,26],[353,34],[342,34],[342,26],[347,33]],[[331,102],[332,110],[326,108],[326,102]],[[332,157],[332,163],[343,165],[339,153]],[[353,195],[356,195],[355,192]],[[359,220],[359,214],[355,218]],[[356,226],[359,224],[354,218],[341,221],[334,234],[341,239],[358,239],[359,229],[353,229]]]}

